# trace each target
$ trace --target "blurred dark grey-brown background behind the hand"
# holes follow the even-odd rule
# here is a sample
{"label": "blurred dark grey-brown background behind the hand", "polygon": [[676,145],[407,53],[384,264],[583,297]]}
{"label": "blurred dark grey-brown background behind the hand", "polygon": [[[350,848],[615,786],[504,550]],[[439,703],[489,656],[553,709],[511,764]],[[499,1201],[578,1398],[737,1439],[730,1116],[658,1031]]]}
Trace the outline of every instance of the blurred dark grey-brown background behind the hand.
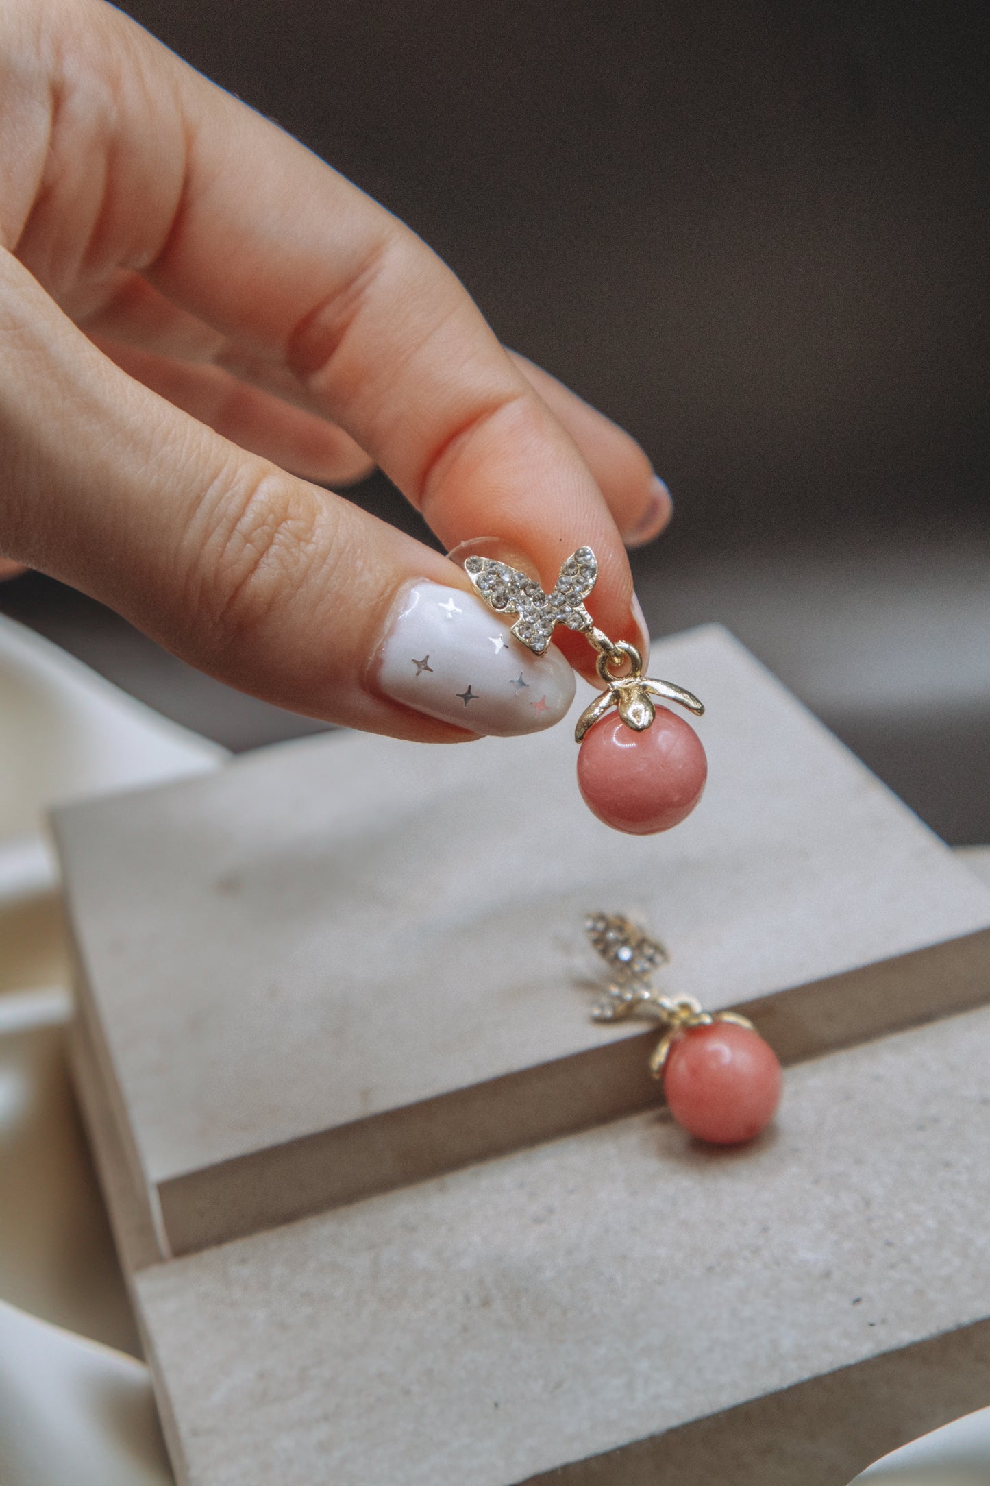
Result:
{"label": "blurred dark grey-brown background behind the hand", "polygon": [[[990,7],[125,4],[408,221],[668,481],[655,633],[727,623],[990,841]],[[420,533],[381,477],[352,498]],[[232,747],[313,724],[28,575],[0,608]]]}

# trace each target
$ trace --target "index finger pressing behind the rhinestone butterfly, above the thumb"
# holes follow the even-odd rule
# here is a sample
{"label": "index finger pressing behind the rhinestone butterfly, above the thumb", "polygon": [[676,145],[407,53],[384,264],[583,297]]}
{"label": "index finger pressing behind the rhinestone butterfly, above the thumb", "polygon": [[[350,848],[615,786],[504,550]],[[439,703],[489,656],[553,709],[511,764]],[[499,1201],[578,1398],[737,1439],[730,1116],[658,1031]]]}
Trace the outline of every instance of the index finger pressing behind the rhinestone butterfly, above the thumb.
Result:
{"label": "index finger pressing behind the rhinestone butterfly, above the thumb", "polygon": [[595,620],[635,640],[632,578],[597,483],[450,269],[289,135],[104,13],[104,34],[77,40],[89,70],[116,67],[122,184],[102,242],[288,366],[448,548],[500,538],[549,587],[591,545]]}

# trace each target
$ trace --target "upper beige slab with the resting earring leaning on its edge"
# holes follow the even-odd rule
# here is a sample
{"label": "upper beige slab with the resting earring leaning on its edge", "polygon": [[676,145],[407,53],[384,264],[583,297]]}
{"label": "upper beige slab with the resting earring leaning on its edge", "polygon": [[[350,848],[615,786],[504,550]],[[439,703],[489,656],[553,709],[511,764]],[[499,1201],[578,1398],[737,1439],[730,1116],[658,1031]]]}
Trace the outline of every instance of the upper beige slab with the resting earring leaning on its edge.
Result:
{"label": "upper beige slab with the resting earring leaning on its edge", "polygon": [[655,1100],[650,1033],[588,1018],[589,909],[649,924],[663,990],[750,1005],[787,1060],[986,997],[987,889],[753,657],[707,627],[650,672],[708,703],[707,795],[662,837],[588,814],[567,724],[312,739],[58,814],[85,1033],[162,1256]]}

